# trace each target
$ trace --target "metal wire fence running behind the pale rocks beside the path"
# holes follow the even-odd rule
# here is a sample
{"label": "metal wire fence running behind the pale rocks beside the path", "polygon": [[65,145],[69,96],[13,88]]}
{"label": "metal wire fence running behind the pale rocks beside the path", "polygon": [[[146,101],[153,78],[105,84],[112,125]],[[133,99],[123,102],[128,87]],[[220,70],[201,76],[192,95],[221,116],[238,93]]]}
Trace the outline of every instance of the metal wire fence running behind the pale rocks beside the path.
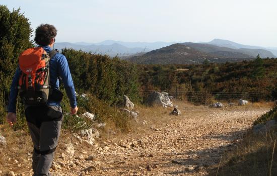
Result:
{"label": "metal wire fence running behind the pale rocks beside the path", "polygon": [[249,102],[268,101],[269,93],[267,91],[258,92],[185,92],[185,91],[155,91],[141,90],[140,95],[143,100],[147,100],[149,94],[153,92],[168,93],[171,101],[185,101],[195,105],[211,105],[216,102],[238,103],[238,100],[247,100]]}

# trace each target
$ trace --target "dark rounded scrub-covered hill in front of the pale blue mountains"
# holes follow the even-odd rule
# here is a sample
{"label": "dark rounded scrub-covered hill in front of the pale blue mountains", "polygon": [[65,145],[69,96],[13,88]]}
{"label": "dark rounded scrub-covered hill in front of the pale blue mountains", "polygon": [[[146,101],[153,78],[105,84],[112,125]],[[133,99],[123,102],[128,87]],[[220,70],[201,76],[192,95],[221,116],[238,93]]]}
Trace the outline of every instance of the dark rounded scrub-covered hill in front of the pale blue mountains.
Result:
{"label": "dark rounded scrub-covered hill in front of the pale blue mountains", "polygon": [[150,51],[142,56],[133,56],[127,58],[127,60],[139,64],[198,64],[205,59],[209,59],[211,62],[223,63],[251,58],[253,57],[232,48],[201,43],[180,43]]}

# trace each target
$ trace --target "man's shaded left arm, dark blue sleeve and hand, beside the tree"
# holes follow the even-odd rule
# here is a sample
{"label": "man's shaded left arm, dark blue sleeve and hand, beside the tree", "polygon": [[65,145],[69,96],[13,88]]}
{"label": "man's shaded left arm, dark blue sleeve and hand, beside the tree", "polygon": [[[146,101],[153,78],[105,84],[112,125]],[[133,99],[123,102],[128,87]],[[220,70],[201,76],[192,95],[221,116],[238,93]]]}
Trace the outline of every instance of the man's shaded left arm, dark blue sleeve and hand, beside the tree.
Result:
{"label": "man's shaded left arm, dark blue sleeve and hand, beside the tree", "polygon": [[16,123],[16,99],[18,95],[18,80],[20,77],[20,70],[19,67],[16,69],[16,73],[14,75],[12,84],[11,84],[11,92],[9,97],[9,104],[8,104],[8,115],[7,121],[8,123],[13,126]]}

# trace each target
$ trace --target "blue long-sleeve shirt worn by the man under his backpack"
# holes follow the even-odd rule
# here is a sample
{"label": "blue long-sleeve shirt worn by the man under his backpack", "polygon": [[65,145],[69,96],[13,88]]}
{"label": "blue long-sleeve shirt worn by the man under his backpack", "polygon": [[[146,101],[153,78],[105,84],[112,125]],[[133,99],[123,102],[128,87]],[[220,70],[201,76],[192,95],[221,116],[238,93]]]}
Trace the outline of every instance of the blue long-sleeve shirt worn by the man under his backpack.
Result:
{"label": "blue long-sleeve shirt worn by the man under his backpack", "polygon": [[[52,49],[49,46],[40,46],[49,53]],[[65,92],[70,99],[70,105],[72,108],[77,106],[75,88],[68,67],[67,60],[64,55],[56,53],[49,61],[50,66],[50,86],[51,89],[59,89],[59,77],[64,84]],[[13,82],[11,85],[11,93],[9,97],[8,112],[16,113],[16,99],[18,95],[18,81],[20,77],[20,69],[17,67]],[[48,101],[47,105],[60,106],[60,102]]]}

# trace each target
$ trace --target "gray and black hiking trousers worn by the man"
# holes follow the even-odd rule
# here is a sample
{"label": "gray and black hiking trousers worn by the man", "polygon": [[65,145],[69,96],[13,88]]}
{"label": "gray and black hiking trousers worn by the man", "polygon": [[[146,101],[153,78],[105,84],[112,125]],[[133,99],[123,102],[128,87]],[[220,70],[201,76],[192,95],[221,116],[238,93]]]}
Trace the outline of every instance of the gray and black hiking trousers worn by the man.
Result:
{"label": "gray and black hiking trousers worn by the man", "polygon": [[33,176],[50,175],[60,128],[62,110],[59,106],[27,107],[26,120],[33,141]]}

